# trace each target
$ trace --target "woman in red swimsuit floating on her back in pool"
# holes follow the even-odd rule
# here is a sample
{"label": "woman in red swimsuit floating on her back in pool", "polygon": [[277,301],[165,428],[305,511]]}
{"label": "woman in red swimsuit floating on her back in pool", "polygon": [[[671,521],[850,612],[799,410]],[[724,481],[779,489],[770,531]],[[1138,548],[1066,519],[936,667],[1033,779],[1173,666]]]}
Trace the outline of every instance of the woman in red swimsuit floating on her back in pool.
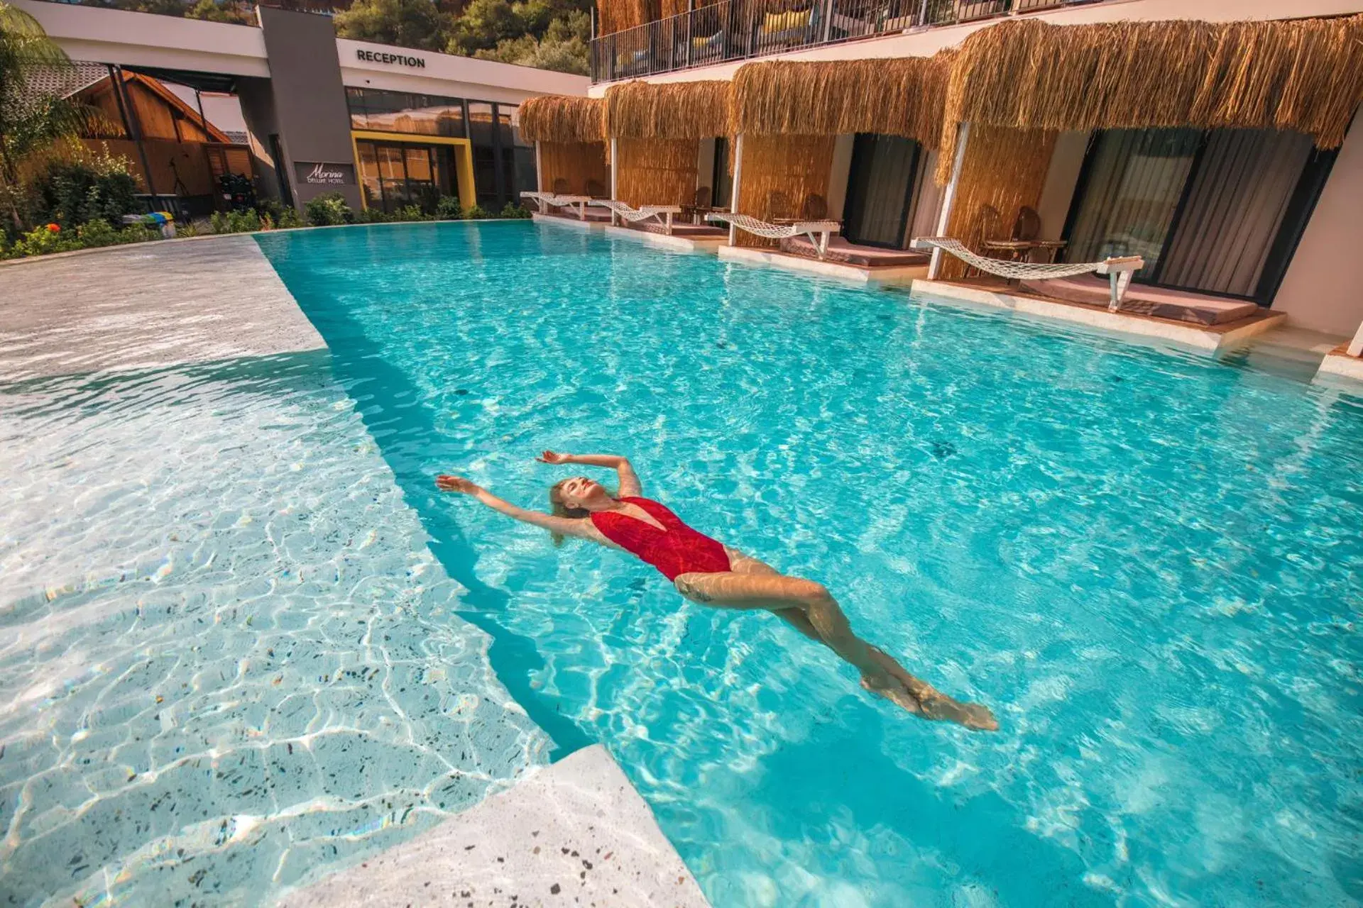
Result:
{"label": "woman in red swimsuit floating on her back in pool", "polygon": [[692,602],[717,609],[763,609],[788,621],[811,640],[829,647],[861,672],[861,686],[916,716],[958,721],[968,728],[994,731],[994,715],[979,704],[962,704],[904,670],[883,651],[855,633],[836,599],[822,584],[788,577],[756,558],[731,549],[691,527],[660,505],[639,497],[639,478],[616,455],[564,455],[545,451],[541,463],[579,463],[613,467],[620,494],[612,497],[586,476],[563,479],[549,489],[553,513],[525,510],[459,476],[436,476],[443,491],[473,496],[493,510],[544,527],[557,543],[578,536],[623,549],[653,565],[677,592]]}

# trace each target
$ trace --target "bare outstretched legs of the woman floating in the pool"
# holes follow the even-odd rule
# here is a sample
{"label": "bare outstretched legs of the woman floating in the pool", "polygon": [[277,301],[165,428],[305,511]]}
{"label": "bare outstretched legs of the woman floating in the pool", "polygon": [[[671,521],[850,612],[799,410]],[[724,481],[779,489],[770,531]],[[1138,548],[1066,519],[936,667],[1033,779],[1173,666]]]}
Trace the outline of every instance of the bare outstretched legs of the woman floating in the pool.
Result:
{"label": "bare outstretched legs of the woman floating in the pool", "polygon": [[[746,558],[746,557],[744,557]],[[818,640],[861,672],[861,686],[928,719],[958,721],[970,728],[998,728],[988,709],[960,704],[927,682],[915,678],[878,647],[867,644],[823,584],[786,577],[754,558],[731,562],[740,570],[688,573],[676,579],[687,599],[721,609],[763,609],[788,621],[796,630]],[[756,565],[756,566],[755,566]]]}

